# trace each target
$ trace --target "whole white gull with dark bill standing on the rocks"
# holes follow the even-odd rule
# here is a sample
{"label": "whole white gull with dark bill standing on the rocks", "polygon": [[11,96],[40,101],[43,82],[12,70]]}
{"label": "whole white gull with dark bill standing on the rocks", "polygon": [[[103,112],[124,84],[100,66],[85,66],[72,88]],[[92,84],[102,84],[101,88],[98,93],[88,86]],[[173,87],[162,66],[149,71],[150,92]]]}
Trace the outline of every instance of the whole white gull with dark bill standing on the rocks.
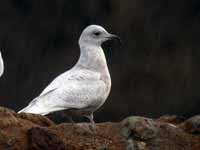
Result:
{"label": "whole white gull with dark bill standing on the rocks", "polygon": [[46,115],[72,110],[94,125],[93,112],[102,106],[111,89],[111,78],[101,44],[119,39],[103,27],[90,25],[79,38],[80,58],[76,65],[56,77],[42,93],[19,113]]}

